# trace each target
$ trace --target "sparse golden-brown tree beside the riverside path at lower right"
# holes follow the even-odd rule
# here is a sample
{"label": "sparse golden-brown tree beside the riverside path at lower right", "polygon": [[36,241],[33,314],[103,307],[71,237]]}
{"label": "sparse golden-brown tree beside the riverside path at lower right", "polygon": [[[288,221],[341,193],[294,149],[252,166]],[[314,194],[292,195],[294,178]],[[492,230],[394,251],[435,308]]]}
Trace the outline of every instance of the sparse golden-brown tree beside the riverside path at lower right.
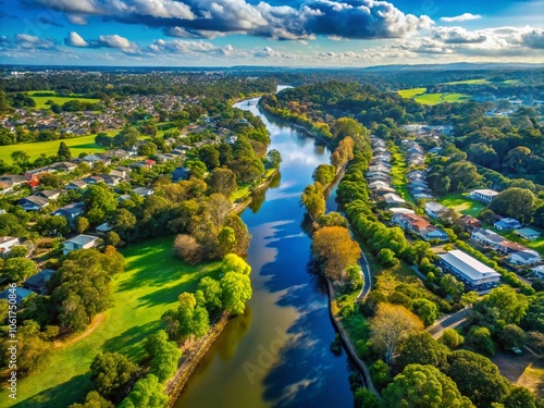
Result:
{"label": "sparse golden-brown tree beside the riverside path at lower right", "polygon": [[381,302],[370,322],[371,341],[379,353],[391,363],[400,346],[413,332],[423,330],[423,323],[404,306]]}

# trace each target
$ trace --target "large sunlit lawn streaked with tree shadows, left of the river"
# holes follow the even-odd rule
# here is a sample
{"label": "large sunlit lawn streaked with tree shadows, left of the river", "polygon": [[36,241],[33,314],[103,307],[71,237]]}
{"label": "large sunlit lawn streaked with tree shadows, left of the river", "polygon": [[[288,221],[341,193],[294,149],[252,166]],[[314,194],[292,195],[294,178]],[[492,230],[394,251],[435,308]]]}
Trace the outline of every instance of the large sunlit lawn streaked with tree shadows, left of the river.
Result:
{"label": "large sunlit lawn streaked with tree shadows, left of the river", "polygon": [[135,244],[123,250],[126,272],[113,282],[115,307],[91,334],[55,348],[41,372],[18,382],[17,400],[0,394],[4,407],[66,407],[91,388],[89,366],[99,351],[119,351],[132,361],[144,357],[144,339],[160,326],[162,313],[199,280],[217,273],[219,262],[189,267],[172,255],[173,237]]}

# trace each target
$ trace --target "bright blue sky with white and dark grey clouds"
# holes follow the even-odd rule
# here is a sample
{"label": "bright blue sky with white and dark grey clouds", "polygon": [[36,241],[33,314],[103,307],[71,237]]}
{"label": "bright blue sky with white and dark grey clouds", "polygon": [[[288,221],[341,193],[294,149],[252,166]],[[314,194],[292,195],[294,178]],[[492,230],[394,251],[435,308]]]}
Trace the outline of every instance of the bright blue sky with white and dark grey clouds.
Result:
{"label": "bright blue sky with white and dark grey clouds", "polygon": [[0,63],[544,63],[544,0],[0,0]]}

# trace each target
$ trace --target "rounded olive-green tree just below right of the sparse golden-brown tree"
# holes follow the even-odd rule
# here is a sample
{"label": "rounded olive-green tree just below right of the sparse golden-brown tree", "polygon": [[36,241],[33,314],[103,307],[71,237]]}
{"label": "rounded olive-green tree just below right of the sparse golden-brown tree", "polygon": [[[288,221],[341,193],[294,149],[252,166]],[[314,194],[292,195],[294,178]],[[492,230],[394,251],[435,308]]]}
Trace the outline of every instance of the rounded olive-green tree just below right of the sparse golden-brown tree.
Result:
{"label": "rounded olive-green tree just below right of the sparse golden-brown tree", "polygon": [[412,333],[404,343],[397,361],[400,368],[420,363],[444,369],[448,355],[449,349],[436,342],[429,332]]}

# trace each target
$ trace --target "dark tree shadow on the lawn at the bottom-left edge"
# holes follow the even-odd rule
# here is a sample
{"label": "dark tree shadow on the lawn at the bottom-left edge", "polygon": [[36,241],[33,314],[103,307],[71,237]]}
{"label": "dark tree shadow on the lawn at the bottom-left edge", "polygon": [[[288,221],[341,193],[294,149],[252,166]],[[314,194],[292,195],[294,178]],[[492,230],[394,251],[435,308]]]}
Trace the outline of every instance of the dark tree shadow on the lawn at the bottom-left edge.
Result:
{"label": "dark tree shadow on the lawn at the bottom-left edge", "polygon": [[[37,375],[39,375],[39,373]],[[47,388],[30,398],[17,403],[13,407],[61,408],[67,407],[74,403],[81,403],[85,399],[87,393],[92,391],[92,383],[90,382],[89,376],[90,373],[76,375],[65,383]]]}

